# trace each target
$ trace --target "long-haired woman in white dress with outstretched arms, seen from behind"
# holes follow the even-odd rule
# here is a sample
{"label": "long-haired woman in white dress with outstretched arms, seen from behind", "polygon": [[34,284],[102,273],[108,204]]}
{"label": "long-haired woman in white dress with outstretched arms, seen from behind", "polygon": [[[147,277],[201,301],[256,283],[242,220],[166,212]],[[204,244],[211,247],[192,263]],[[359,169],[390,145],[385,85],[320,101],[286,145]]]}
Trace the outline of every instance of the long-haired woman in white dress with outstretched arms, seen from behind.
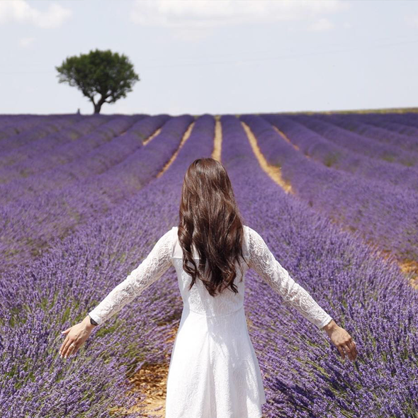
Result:
{"label": "long-haired woman in white dress with outstretched arms, seen from behind", "polygon": [[303,317],[324,329],[343,358],[355,360],[351,336],[295,283],[264,239],[242,225],[230,179],[212,158],[196,159],[181,191],[179,226],[82,322],[64,331],[60,354],[77,353],[91,330],[174,266],[183,312],[166,390],[166,418],[260,418],[266,402],[244,315],[244,275],[253,268]]}

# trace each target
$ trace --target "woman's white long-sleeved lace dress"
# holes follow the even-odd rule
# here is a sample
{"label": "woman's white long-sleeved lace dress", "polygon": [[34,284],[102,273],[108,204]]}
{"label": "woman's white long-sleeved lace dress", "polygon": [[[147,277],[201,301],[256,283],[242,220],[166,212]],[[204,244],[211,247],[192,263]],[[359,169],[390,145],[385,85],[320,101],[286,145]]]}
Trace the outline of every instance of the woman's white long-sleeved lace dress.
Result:
{"label": "woman's white long-sleeved lace dress", "polygon": [[[260,418],[266,402],[259,363],[244,314],[244,278],[213,298],[200,280],[189,291],[191,276],[183,271],[178,227],[166,232],[147,258],[116,286],[89,315],[102,324],[157,281],[173,265],[183,312],[171,353],[166,388],[166,418]],[[332,317],[295,283],[264,239],[244,225],[244,256],[283,302],[321,329]],[[196,249],[193,249],[196,256]],[[196,256],[196,259],[198,257]],[[244,272],[248,266],[243,263]]]}

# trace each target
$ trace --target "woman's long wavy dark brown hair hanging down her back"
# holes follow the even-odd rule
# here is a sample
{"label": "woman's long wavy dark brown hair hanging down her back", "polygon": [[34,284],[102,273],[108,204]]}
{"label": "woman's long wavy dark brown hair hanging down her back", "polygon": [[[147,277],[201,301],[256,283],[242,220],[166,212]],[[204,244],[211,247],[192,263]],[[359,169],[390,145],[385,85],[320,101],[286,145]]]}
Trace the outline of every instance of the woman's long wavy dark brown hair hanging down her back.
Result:
{"label": "woman's long wavy dark brown hair hanging down her back", "polygon": [[[192,277],[189,290],[200,278],[211,296],[228,287],[238,293],[235,262],[242,273],[243,222],[227,171],[213,158],[198,158],[188,166],[181,189],[178,235],[183,269]],[[198,266],[192,245],[199,256]]]}

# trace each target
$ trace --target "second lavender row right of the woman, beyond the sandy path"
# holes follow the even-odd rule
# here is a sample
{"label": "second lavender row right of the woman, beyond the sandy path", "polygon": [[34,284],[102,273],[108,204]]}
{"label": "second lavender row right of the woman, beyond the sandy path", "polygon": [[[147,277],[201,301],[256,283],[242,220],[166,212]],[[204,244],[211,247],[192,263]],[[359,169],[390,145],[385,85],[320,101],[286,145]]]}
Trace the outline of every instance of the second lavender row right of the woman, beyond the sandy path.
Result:
{"label": "second lavender row right of the woman, beyond the sandy path", "polygon": [[418,260],[418,201],[407,188],[332,169],[306,158],[265,118],[243,115],[269,164],[310,206],[357,230],[400,259]]}

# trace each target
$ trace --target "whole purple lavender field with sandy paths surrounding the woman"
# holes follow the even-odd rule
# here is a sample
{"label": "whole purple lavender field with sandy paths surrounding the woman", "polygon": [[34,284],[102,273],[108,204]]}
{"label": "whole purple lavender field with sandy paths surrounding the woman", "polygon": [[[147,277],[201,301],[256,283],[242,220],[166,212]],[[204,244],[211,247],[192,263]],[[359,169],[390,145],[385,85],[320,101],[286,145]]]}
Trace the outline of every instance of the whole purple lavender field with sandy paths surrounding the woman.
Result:
{"label": "whole purple lavender field with sandy paths surrounding the woman", "polygon": [[418,418],[418,113],[0,115],[0,416],[164,417],[174,268],[76,356],[58,350],[177,225],[199,157],[356,341],[344,361],[249,271],[264,417]]}

